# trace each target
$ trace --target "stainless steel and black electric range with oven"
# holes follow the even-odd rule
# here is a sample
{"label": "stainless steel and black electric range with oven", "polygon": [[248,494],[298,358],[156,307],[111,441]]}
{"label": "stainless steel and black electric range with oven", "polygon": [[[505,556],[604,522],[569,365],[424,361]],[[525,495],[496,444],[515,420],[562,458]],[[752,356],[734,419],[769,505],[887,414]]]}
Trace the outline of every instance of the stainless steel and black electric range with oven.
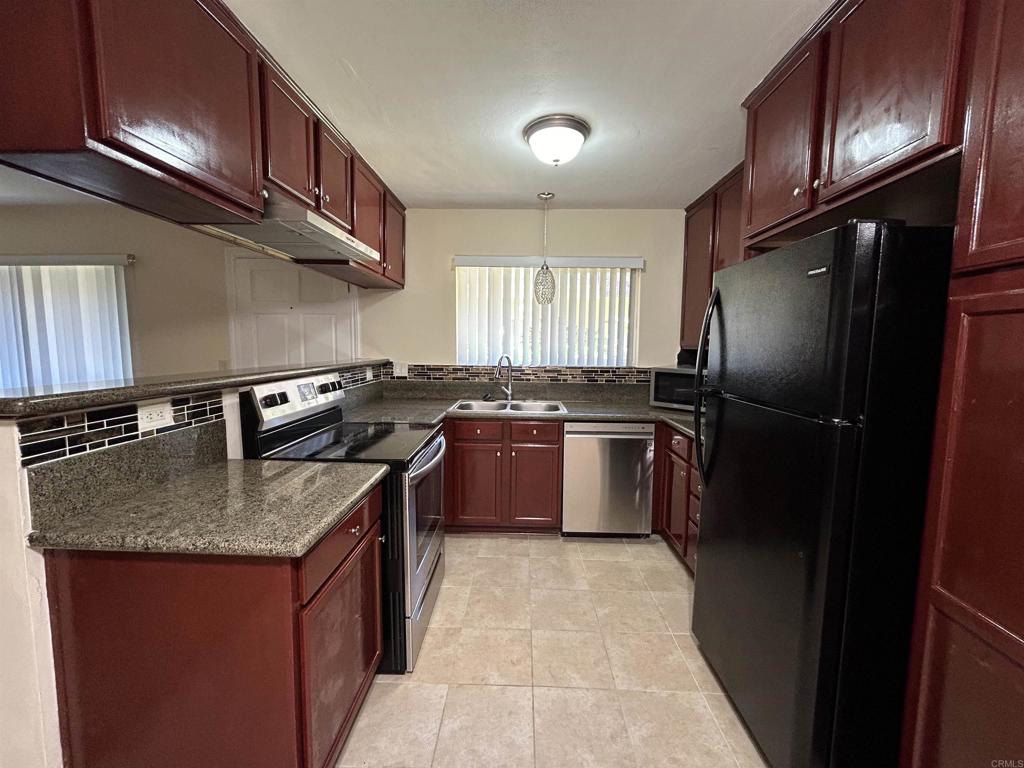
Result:
{"label": "stainless steel and black electric range with oven", "polygon": [[240,397],[247,459],[386,464],[381,515],[384,656],[412,672],[444,577],[440,425],[347,422],[337,374],[260,384]]}

